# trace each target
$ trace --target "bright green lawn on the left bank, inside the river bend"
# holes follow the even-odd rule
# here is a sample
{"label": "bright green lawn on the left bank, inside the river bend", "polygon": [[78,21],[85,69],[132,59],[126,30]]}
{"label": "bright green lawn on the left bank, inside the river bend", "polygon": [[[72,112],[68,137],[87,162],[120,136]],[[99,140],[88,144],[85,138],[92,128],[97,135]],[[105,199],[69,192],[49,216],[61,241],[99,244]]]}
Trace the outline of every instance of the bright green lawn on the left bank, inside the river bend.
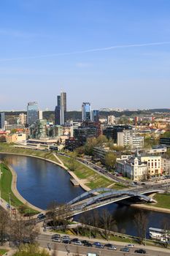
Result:
{"label": "bright green lawn on the left bank, inside the river bend", "polygon": [[[1,179],[0,179],[0,189],[1,189],[1,197],[9,203],[9,194],[12,206],[19,208],[23,206],[23,203],[18,200],[17,197],[12,192],[11,183],[12,183],[12,173],[9,168],[4,165],[0,164],[1,166]],[[26,212],[30,211],[30,214],[37,214],[38,211],[34,211],[32,209],[26,208]]]}

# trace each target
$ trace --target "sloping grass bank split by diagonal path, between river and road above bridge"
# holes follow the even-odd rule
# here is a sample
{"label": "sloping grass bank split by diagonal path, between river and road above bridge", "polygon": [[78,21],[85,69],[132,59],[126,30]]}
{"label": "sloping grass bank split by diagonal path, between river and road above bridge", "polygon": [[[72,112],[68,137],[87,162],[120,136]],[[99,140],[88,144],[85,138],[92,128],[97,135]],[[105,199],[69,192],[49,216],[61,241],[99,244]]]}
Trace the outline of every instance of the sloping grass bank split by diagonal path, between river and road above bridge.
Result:
{"label": "sloping grass bank split by diagonal path, between river and road above bridge", "polygon": [[[58,155],[58,158],[61,159],[64,165],[69,168],[70,159],[69,157],[63,157]],[[83,165],[80,162],[74,160],[74,174],[80,179],[87,179],[86,185],[90,187],[90,189],[96,189],[97,187],[108,187],[113,182],[110,181],[108,178],[101,176],[100,174],[96,173],[86,165]]]}

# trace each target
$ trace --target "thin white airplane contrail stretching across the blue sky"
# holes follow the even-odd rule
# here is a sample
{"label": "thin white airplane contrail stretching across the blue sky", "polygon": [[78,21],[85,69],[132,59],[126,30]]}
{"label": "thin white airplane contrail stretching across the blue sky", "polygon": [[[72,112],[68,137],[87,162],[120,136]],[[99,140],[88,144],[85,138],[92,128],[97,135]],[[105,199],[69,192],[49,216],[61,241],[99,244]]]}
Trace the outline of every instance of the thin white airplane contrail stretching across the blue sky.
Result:
{"label": "thin white airplane contrail stretching across the blue sky", "polygon": [[39,55],[39,56],[25,56],[25,57],[16,57],[16,58],[7,58],[7,59],[0,59],[0,61],[15,61],[15,60],[22,60],[22,59],[40,59],[40,58],[47,58],[47,57],[56,57],[56,56],[69,56],[79,53],[93,53],[97,51],[105,51],[105,50],[113,50],[118,48],[138,48],[144,46],[154,46],[154,45],[170,45],[170,41],[166,42],[149,42],[149,43],[142,43],[142,44],[134,44],[134,45],[113,45],[105,48],[93,48],[88,50],[79,50],[73,51],[69,53],[53,53],[53,54],[46,54],[46,55]]}

